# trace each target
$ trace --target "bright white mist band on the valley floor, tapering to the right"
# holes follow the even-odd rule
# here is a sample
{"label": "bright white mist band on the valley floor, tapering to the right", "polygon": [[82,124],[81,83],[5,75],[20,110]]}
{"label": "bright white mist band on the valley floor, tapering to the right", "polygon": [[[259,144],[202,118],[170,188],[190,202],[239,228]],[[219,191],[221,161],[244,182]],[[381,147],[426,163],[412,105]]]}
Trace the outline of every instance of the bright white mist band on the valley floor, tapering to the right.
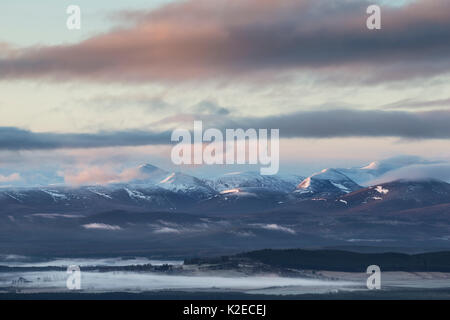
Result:
{"label": "bright white mist band on the valley floor, tapering to the right", "polygon": [[[21,279],[21,280],[19,280]],[[23,292],[67,291],[65,272],[11,272],[0,274],[0,287],[13,286]],[[139,272],[82,272],[86,292],[144,292],[158,290],[232,290],[251,292],[291,288],[297,293],[329,292],[357,288],[360,283],[279,276],[165,275]]]}

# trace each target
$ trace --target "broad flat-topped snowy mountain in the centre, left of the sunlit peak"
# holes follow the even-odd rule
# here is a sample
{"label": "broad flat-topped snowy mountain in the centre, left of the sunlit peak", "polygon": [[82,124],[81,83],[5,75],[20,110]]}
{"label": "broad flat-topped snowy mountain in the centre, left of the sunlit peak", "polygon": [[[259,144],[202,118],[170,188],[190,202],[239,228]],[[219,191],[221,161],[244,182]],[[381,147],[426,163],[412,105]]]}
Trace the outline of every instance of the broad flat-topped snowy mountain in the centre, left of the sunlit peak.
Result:
{"label": "broad flat-topped snowy mountain in the centre, left of the sunlit peak", "polygon": [[208,181],[208,185],[218,192],[238,188],[261,188],[277,192],[295,190],[302,177],[296,175],[261,175],[259,172],[233,172]]}

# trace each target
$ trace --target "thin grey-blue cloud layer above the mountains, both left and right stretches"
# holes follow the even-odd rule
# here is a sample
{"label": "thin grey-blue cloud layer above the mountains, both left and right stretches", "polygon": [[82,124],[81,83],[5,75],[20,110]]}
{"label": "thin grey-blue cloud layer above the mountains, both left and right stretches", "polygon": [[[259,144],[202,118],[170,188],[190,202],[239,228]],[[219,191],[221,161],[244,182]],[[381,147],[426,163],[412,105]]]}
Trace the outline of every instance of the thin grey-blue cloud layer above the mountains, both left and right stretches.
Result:
{"label": "thin grey-blue cloud layer above the mountains, both left and right stretches", "polygon": [[[222,129],[280,129],[283,138],[400,137],[449,139],[450,111],[330,110],[279,116],[229,118]],[[208,128],[205,123],[204,128]],[[100,148],[170,144],[171,132],[118,131],[92,134],[35,133],[0,127],[0,150]]]}

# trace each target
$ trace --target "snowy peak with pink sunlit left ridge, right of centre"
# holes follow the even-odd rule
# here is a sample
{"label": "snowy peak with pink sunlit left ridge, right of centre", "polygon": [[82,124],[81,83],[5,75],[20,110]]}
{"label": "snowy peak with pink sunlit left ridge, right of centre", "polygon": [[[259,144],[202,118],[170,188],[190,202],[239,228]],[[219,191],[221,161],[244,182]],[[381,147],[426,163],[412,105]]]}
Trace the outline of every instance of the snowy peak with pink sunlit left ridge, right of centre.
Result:
{"label": "snowy peak with pink sunlit left ridge, right of centre", "polygon": [[302,197],[330,197],[360,189],[357,183],[336,169],[324,169],[304,179],[295,193]]}

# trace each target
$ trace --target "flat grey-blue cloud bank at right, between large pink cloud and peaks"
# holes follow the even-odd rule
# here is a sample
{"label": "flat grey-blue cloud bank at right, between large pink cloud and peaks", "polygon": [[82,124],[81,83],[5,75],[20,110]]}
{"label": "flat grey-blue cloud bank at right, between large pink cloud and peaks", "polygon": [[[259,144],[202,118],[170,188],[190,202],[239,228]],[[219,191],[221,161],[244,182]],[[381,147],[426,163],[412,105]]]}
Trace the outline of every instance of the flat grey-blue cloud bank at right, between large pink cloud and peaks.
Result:
{"label": "flat grey-blue cloud bank at right, between large pink cloud and peaks", "polygon": [[238,119],[229,127],[279,128],[285,138],[450,138],[450,111],[402,112],[327,110]]}

